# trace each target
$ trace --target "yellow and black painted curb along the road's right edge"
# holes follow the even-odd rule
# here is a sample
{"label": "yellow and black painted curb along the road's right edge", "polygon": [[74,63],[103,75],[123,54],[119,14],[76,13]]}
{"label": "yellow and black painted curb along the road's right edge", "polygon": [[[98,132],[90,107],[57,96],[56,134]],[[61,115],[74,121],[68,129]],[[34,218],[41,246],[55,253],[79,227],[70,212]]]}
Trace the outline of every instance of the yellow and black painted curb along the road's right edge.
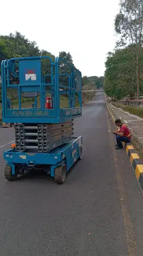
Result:
{"label": "yellow and black painted curb along the road's right edge", "polygon": [[[115,124],[115,116],[113,115],[113,113],[111,113],[107,104],[106,106],[107,106],[108,112],[111,115],[113,123]],[[143,162],[141,161],[140,157],[138,156],[136,150],[134,149],[131,143],[123,142],[123,145],[126,150],[126,154],[129,158],[132,169],[134,170],[135,176],[139,182],[141,189],[143,190],[143,164],[142,164]]]}

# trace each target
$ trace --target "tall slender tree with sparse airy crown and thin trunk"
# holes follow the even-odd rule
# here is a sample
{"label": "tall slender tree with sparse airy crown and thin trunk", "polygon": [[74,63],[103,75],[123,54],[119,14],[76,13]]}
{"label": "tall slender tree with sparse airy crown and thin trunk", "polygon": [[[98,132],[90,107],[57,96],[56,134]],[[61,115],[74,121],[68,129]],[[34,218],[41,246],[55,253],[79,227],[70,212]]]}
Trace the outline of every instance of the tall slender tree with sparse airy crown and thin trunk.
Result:
{"label": "tall slender tree with sparse airy crown and thin trunk", "polygon": [[120,35],[118,47],[132,45],[132,62],[136,63],[137,98],[140,92],[140,53],[143,42],[143,1],[120,0],[120,11],[115,18],[115,31]]}

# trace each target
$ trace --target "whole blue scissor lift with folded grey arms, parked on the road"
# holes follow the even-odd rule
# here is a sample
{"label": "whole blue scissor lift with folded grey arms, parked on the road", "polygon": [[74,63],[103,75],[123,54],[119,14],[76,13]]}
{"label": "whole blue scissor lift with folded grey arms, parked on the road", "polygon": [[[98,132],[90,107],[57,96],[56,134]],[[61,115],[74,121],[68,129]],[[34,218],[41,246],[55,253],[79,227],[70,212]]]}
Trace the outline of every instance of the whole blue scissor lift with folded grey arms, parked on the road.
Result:
{"label": "whole blue scissor lift with folded grey arms, parked on the road", "polygon": [[[5,178],[15,180],[25,170],[50,170],[63,184],[82,157],[82,137],[73,136],[73,120],[82,114],[81,72],[62,58],[47,56],[3,60],[1,70],[3,122],[17,123],[15,143],[4,152]],[[61,96],[68,99],[64,108]]]}

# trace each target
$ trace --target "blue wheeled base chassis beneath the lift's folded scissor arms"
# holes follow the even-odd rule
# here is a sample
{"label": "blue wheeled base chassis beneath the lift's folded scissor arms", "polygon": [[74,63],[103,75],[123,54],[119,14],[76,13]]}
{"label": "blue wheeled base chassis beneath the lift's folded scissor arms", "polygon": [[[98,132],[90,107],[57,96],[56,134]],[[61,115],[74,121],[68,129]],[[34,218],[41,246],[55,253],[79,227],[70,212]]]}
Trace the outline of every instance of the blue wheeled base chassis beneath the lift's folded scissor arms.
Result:
{"label": "blue wheeled base chassis beneath the lift's folded scissor arms", "polygon": [[83,155],[82,137],[73,138],[69,143],[53,149],[49,153],[16,152],[10,149],[4,152],[6,160],[5,178],[15,180],[25,170],[43,169],[55,178],[57,184],[63,184],[66,174],[73,164]]}

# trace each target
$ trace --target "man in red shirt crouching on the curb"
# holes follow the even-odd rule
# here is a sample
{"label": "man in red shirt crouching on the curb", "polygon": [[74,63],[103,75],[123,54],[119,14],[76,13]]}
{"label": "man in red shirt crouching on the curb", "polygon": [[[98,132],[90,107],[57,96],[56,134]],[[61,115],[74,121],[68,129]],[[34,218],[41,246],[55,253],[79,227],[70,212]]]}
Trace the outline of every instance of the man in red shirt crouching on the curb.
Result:
{"label": "man in red shirt crouching on the curb", "polygon": [[[122,149],[123,148],[122,142],[126,142],[126,143],[130,142],[131,134],[128,127],[125,124],[122,124],[120,119],[116,119],[115,124],[116,124],[116,131],[114,131],[113,133],[116,134],[116,141],[117,141],[116,149]],[[117,127],[120,128],[119,131],[117,131]]]}

